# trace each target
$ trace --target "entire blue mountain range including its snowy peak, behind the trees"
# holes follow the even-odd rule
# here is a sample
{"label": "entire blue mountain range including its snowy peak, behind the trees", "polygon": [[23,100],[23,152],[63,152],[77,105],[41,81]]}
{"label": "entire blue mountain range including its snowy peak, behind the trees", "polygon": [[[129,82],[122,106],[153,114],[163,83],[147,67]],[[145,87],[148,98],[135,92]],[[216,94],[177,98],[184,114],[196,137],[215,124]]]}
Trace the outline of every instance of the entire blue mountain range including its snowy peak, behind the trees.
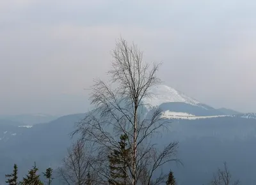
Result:
{"label": "entire blue mountain range including its snowy peak, behind the trees", "polygon": [[[153,137],[152,142],[162,148],[178,140],[178,157],[184,164],[164,166],[164,172],[172,168],[179,185],[208,184],[213,172],[227,161],[233,177],[242,184],[256,184],[256,114],[216,109],[166,85],[157,85],[150,92],[150,98],[143,99],[142,113],[149,115],[153,107],[159,107],[164,111],[163,117],[170,121],[168,128]],[[4,174],[12,172],[13,163],[17,163],[20,176],[34,161],[40,170],[49,165],[56,170],[72,143],[74,123],[85,115],[65,115],[31,125],[24,119],[2,124],[0,121],[0,182],[4,181]]]}

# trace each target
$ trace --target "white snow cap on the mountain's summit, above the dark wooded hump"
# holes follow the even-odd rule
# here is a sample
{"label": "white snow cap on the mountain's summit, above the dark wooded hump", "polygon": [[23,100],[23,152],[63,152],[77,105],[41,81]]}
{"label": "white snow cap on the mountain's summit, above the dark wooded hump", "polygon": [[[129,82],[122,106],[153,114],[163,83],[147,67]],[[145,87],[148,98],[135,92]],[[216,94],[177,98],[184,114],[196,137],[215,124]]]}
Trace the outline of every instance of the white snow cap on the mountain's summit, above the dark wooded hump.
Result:
{"label": "white snow cap on the mountain's summit, above the dark wooded hump", "polygon": [[168,87],[167,85],[156,85],[152,87],[149,92],[151,93],[150,97],[144,98],[143,102],[153,107],[157,107],[162,103],[170,102],[182,102],[195,106],[198,106],[198,104],[200,103],[195,99],[190,98],[183,93],[180,93],[172,87]]}

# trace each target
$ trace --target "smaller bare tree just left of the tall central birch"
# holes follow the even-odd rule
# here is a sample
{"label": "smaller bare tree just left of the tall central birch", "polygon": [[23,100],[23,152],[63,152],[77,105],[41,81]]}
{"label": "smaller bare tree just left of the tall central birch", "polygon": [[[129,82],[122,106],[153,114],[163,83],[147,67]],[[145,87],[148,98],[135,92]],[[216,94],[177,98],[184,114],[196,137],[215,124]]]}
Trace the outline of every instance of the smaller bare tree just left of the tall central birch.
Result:
{"label": "smaller bare tree just left of the tall central birch", "polygon": [[68,185],[87,184],[88,172],[90,172],[90,155],[86,154],[84,142],[78,140],[68,149],[67,157],[63,159],[63,166],[59,173],[63,182]]}

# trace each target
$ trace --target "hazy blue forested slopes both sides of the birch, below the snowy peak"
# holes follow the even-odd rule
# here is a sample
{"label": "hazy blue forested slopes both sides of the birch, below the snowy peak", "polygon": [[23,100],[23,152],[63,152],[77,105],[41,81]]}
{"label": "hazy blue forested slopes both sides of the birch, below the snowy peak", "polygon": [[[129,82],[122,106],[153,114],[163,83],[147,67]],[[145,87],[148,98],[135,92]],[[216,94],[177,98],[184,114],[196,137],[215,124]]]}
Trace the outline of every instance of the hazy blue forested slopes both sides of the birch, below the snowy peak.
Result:
{"label": "hazy blue forested slopes both sides of the birch, below the snowy peak", "polygon": [[[17,135],[6,142],[0,141],[0,161],[3,162],[0,174],[12,172],[14,162],[19,165],[20,176],[27,172],[33,161],[41,170],[49,165],[58,168],[72,142],[69,133],[74,130],[74,122],[83,117],[84,114],[67,115],[32,128],[10,128],[16,129]],[[159,148],[173,140],[180,142],[178,157],[184,166],[173,164],[172,170],[181,185],[207,184],[223,161],[227,161],[232,174],[244,184],[256,181],[253,176],[256,170],[252,166],[256,166],[253,162],[256,155],[253,147],[256,143],[255,119],[238,116],[172,119],[168,130],[152,140]],[[170,170],[170,166],[165,170]]]}

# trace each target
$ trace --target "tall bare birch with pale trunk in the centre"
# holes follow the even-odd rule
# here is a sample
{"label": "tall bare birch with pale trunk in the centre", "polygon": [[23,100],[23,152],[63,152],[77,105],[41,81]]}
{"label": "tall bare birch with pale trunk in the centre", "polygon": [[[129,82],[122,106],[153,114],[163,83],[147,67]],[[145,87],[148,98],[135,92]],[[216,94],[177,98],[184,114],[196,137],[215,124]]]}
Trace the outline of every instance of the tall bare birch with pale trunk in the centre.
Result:
{"label": "tall bare birch with pale trunk in the centre", "polygon": [[[178,142],[171,142],[161,151],[151,139],[155,133],[160,133],[166,124],[163,112],[159,108],[150,109],[150,114],[145,116],[144,98],[150,97],[150,88],[161,81],[156,77],[159,63],[152,67],[143,62],[143,53],[132,44],[129,46],[124,39],[116,43],[113,50],[112,70],[108,71],[111,80],[108,83],[97,80],[93,85],[90,98],[93,109],[83,121],[79,122],[73,135],[79,133],[85,142],[91,142],[98,155],[94,156],[97,164],[93,168],[104,179],[108,175],[106,161],[108,153],[113,149],[120,150],[118,138],[125,135],[131,146],[132,154],[129,156],[129,170],[127,175],[129,184],[140,184],[139,178],[147,169],[147,182],[151,184],[156,171],[170,161],[177,161],[175,154]],[[107,154],[106,154],[107,153]],[[159,184],[159,179],[154,179],[153,184]]]}

